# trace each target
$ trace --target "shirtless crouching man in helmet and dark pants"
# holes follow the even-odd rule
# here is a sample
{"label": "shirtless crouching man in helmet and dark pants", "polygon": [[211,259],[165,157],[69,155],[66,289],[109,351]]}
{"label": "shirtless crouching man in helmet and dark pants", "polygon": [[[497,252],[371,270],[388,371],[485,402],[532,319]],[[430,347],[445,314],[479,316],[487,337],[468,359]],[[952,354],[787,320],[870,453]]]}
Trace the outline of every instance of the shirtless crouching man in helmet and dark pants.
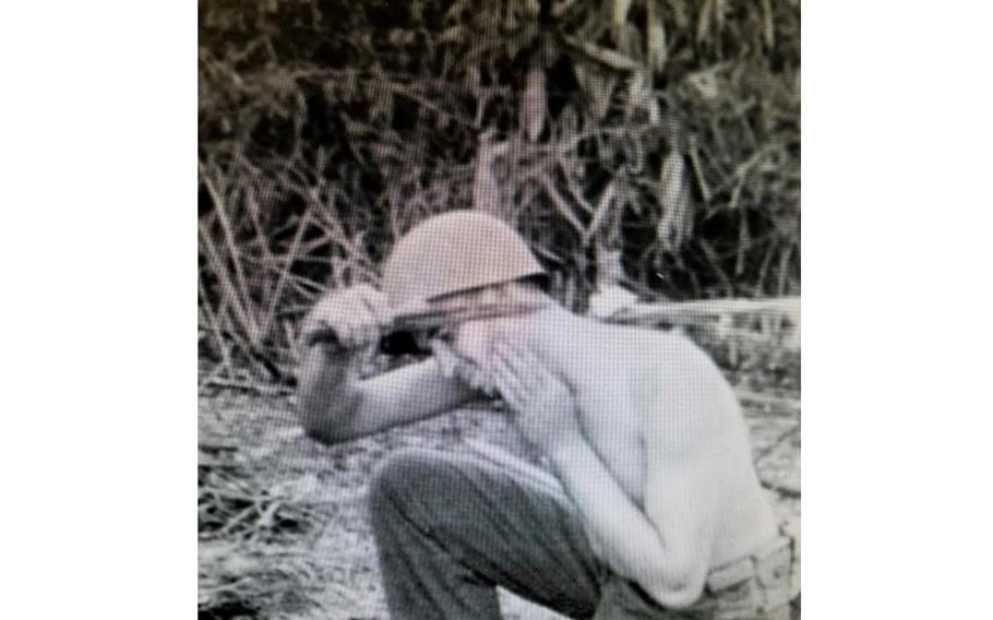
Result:
{"label": "shirtless crouching man in helmet and dark pants", "polygon": [[[383,291],[333,293],[304,320],[299,414],[315,439],[482,392],[543,464],[391,456],[370,490],[391,615],[500,618],[502,586],[573,618],[787,618],[790,541],[721,373],[682,335],[570,313],[542,275],[505,224],[452,212],[398,241]],[[360,379],[397,324],[434,355]]]}

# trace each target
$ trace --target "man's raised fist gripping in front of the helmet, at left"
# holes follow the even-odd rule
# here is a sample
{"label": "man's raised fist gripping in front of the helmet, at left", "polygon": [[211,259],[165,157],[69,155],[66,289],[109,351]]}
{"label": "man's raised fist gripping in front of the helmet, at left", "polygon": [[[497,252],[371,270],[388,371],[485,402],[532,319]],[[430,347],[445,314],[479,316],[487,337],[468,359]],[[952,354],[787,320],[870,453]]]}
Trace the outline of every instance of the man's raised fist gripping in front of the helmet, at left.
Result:
{"label": "man's raised fist gripping in front of the helmet, at left", "polygon": [[307,345],[315,332],[330,329],[343,348],[362,348],[379,342],[392,322],[386,297],[360,284],[332,291],[318,301],[303,319],[301,342]]}

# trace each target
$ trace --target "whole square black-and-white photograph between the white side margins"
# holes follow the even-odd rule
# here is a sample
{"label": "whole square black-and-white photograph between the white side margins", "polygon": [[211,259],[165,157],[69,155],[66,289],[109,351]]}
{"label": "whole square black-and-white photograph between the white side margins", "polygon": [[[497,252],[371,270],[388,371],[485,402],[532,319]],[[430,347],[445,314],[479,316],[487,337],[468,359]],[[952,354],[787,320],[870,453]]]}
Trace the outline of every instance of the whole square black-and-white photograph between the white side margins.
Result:
{"label": "whole square black-and-white photograph between the white side margins", "polygon": [[800,3],[202,0],[199,617],[800,617]]}

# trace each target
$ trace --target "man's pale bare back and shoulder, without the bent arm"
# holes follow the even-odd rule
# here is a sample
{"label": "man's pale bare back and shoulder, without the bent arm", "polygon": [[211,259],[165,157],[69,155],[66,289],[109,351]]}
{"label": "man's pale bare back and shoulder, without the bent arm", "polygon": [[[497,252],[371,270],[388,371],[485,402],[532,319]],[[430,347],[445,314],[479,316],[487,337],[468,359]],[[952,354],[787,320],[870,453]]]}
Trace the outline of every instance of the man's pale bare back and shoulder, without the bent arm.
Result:
{"label": "man's pale bare back and shoulder, without the bent arm", "polygon": [[[740,405],[718,368],[692,341],[680,333],[608,325],[564,312],[552,312],[533,329],[540,331],[538,347],[575,394],[584,438],[639,509],[645,508],[647,480],[656,478],[649,467],[666,463],[646,454],[705,450],[717,487],[710,565],[737,560],[775,539],[777,525],[754,472]],[[673,391],[713,398],[695,410],[667,412],[666,395]],[[702,432],[668,425],[673,415]],[[695,438],[707,444],[697,445]],[[653,491],[662,494],[663,503],[692,499],[671,497],[666,489]]]}

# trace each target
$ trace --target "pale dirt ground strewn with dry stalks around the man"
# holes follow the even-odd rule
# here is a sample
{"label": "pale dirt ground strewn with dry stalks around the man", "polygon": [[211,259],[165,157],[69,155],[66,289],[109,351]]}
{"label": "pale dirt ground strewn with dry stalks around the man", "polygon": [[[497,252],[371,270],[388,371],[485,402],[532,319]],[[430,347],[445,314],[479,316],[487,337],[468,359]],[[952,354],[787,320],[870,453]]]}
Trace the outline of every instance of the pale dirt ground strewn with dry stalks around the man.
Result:
{"label": "pale dirt ground strewn with dry stalks around the man", "polygon": [[[754,393],[755,377],[733,377]],[[799,385],[745,401],[763,481],[782,518],[800,516]],[[787,382],[790,383],[790,382]],[[366,515],[370,474],[400,446],[514,450],[487,408],[327,448],[304,437],[286,396],[220,392],[200,402],[200,618],[386,618]],[[560,618],[501,593],[510,619]]]}

